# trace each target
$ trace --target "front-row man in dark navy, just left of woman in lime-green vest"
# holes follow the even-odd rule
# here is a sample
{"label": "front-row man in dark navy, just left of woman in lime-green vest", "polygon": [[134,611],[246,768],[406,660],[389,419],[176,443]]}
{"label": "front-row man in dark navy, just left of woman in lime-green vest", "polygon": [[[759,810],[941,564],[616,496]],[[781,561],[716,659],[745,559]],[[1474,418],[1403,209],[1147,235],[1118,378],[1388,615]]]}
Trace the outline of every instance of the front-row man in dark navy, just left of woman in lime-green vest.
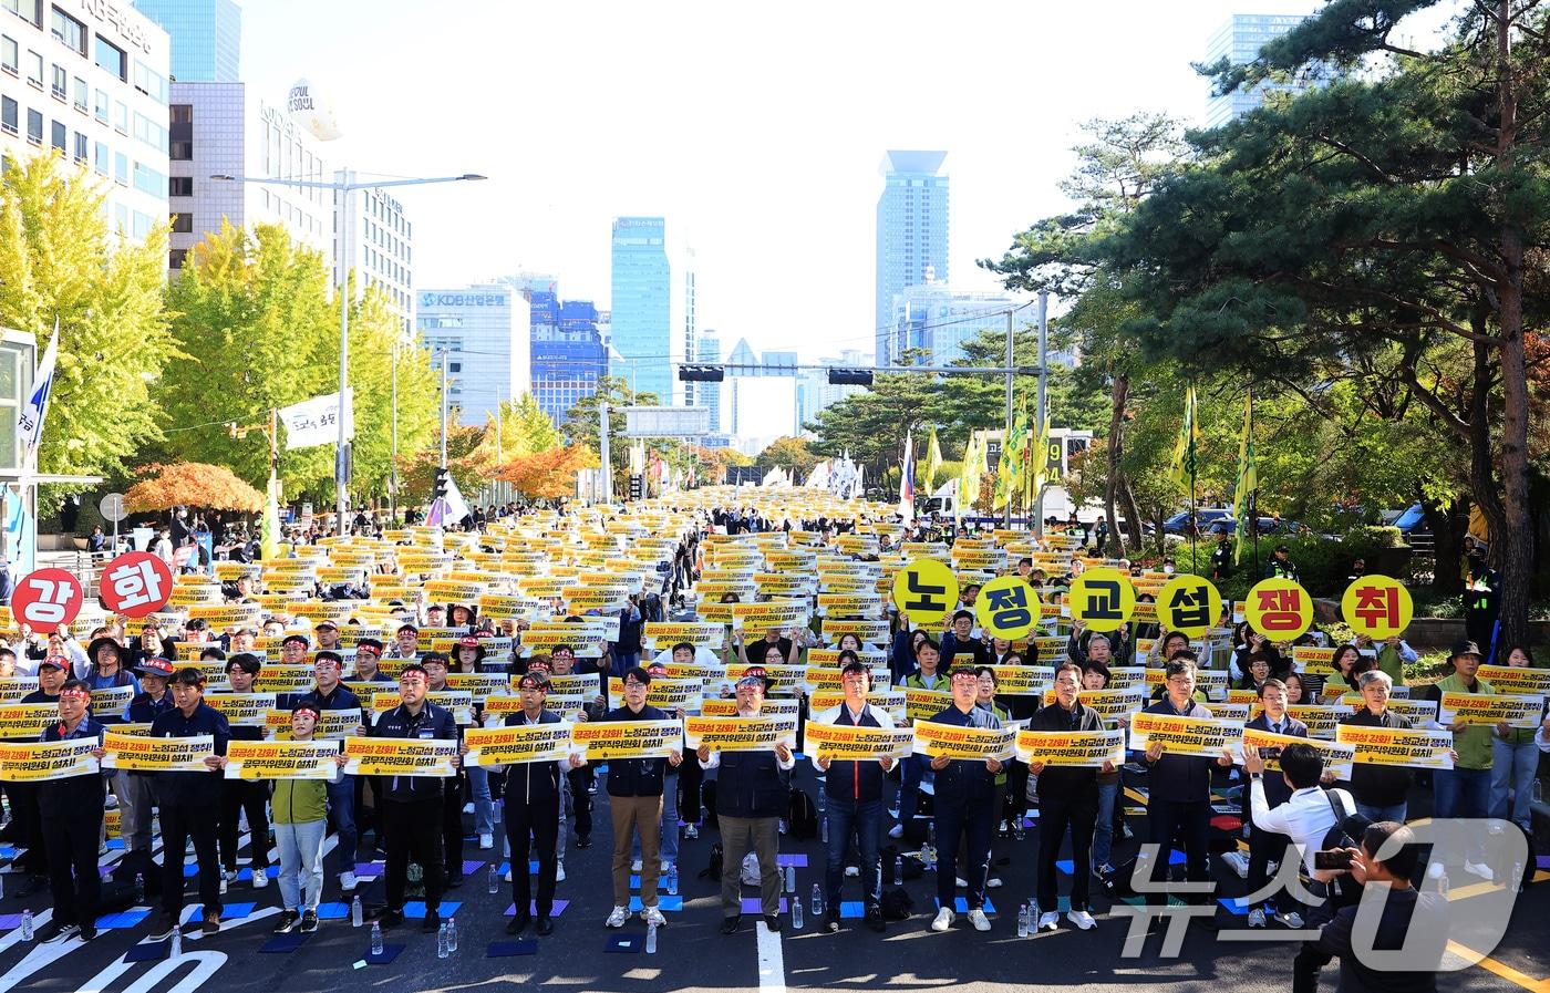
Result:
{"label": "front-row man in dark navy, just left of woman in lime-green vest", "polygon": [[231,727],[226,717],[205,703],[205,674],[192,666],[172,675],[172,710],[150,722],[152,737],[197,737],[209,734],[215,754],[205,759],[206,771],[157,773],[157,802],[161,809],[161,923],[152,937],[172,936],[183,914],[183,852],[194,840],[198,866],[198,895],[205,905],[205,934],[220,931],[220,779],[226,765]]}

